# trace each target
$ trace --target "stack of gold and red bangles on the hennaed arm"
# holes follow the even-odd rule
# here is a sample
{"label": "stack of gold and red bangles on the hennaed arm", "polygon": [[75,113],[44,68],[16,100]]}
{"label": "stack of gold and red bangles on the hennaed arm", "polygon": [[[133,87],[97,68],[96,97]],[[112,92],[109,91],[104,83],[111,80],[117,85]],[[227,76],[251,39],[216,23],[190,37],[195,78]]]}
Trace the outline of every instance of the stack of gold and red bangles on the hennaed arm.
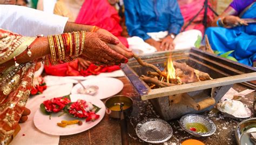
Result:
{"label": "stack of gold and red bangles on the hennaed arm", "polygon": [[51,54],[45,57],[45,64],[68,63],[83,53],[85,31],[63,33],[48,36]]}

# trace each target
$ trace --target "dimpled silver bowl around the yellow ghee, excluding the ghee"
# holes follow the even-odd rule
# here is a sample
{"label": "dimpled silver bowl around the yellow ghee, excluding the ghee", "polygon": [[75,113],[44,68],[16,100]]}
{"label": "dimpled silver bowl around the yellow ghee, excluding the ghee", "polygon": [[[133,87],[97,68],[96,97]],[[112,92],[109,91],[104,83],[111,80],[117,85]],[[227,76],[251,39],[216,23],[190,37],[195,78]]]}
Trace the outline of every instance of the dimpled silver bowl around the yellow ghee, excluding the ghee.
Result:
{"label": "dimpled silver bowl around the yellow ghee, excluding the ghee", "polygon": [[[207,127],[208,132],[206,133],[197,133],[193,132],[190,129],[186,128],[187,123],[201,123],[202,125]],[[184,129],[189,134],[195,136],[195,137],[204,137],[204,136],[210,136],[215,133],[216,126],[212,122],[212,120],[206,118],[203,115],[197,115],[197,114],[187,114],[181,117],[179,120],[179,125],[182,129]]]}

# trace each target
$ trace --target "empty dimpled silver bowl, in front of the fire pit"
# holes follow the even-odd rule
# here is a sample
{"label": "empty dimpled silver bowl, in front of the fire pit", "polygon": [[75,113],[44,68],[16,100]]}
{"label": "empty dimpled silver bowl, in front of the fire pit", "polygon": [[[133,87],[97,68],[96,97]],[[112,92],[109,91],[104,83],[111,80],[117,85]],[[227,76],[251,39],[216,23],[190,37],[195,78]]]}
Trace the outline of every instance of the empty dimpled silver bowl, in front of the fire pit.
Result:
{"label": "empty dimpled silver bowl, in front of the fire pit", "polygon": [[172,127],[161,119],[145,119],[136,126],[138,137],[149,143],[163,143],[172,137]]}

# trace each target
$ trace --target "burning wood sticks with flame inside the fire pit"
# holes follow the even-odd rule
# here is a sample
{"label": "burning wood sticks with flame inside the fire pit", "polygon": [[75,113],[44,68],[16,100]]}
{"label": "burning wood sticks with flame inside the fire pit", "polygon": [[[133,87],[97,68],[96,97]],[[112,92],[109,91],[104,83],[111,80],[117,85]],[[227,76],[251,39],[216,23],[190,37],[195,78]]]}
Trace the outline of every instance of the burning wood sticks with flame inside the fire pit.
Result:
{"label": "burning wood sticks with flame inside the fire pit", "polygon": [[136,55],[133,56],[140,65],[150,67],[156,71],[149,71],[147,72],[147,76],[142,75],[140,77],[140,79],[145,81],[151,88],[169,87],[212,79],[208,73],[196,70],[186,63],[172,61],[171,57],[168,60],[165,70],[160,71],[156,66],[143,62],[142,59]]}

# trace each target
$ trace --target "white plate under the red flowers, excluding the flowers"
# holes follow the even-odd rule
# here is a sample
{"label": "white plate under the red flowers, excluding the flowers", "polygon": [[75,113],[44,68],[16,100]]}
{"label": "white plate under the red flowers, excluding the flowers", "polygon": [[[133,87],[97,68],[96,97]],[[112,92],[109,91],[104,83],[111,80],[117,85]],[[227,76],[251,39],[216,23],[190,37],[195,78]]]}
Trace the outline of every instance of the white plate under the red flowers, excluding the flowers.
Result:
{"label": "white plate under the red flowers, excluding the flowers", "polygon": [[83,122],[82,126],[79,126],[76,124],[76,125],[69,125],[66,127],[59,127],[57,126],[58,122],[61,122],[62,120],[77,120],[77,118],[73,118],[69,114],[58,117],[59,114],[62,114],[61,112],[59,112],[57,114],[52,114],[51,120],[50,120],[49,115],[44,115],[39,108],[33,119],[33,122],[36,128],[41,130],[43,133],[50,134],[50,135],[72,135],[72,134],[84,132],[85,130],[88,130],[96,126],[103,119],[106,108],[104,103],[101,100],[95,98],[95,96],[81,95],[81,94],[75,94],[70,97],[73,98],[71,99],[71,101],[76,101],[77,99],[83,99],[101,108],[96,113],[100,115],[99,118],[94,122],[92,121],[85,122],[85,119],[79,119]]}

